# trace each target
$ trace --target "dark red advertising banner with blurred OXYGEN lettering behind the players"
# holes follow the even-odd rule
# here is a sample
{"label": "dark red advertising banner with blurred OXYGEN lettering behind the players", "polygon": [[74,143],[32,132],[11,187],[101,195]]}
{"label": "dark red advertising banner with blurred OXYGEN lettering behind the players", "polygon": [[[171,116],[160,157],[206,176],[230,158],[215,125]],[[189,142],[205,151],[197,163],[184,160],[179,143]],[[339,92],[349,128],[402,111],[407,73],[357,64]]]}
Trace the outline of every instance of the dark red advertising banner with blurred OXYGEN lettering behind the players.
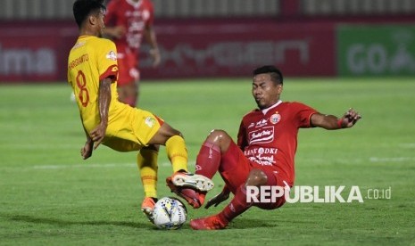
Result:
{"label": "dark red advertising banner with blurred OXYGEN lettering behind the players", "polygon": [[277,65],[287,76],[336,75],[332,24],[245,21],[157,27],[162,66],[151,70],[143,53],[143,78],[245,77],[264,64]]}

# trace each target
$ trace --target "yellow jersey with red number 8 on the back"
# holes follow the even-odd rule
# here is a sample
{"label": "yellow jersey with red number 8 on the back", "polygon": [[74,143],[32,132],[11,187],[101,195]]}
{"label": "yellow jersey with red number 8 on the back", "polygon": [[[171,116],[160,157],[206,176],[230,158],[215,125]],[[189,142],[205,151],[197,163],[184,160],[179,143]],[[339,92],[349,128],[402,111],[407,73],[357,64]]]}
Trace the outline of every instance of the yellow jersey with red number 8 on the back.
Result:
{"label": "yellow jersey with red number 8 on the back", "polygon": [[99,82],[112,78],[112,99],[108,122],[126,108],[118,101],[117,50],[114,43],[105,38],[81,36],[72,47],[68,59],[68,82],[75,94],[84,127],[90,132],[101,121],[98,109]]}

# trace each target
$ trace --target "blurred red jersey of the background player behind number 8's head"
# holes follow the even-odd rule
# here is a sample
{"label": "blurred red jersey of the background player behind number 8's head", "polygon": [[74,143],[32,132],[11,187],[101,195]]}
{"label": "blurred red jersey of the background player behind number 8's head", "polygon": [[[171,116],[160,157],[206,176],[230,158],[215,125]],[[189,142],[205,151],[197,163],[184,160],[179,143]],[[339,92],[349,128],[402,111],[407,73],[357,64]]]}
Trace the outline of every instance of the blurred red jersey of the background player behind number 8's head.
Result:
{"label": "blurred red jersey of the background player behind number 8's head", "polygon": [[107,5],[105,25],[122,26],[126,35],[114,39],[118,53],[125,53],[129,49],[137,53],[141,45],[145,27],[153,25],[154,7],[150,0],[112,0]]}

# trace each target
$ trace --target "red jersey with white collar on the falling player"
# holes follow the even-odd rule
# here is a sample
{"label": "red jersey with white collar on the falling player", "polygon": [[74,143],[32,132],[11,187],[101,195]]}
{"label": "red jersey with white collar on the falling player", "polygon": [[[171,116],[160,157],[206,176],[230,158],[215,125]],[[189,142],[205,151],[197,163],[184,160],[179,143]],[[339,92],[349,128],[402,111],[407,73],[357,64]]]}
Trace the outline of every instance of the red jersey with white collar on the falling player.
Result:
{"label": "red jersey with white collar on the falling player", "polygon": [[263,111],[251,111],[242,119],[237,145],[253,167],[275,169],[293,185],[298,129],[311,127],[310,118],[316,112],[300,102],[281,101]]}

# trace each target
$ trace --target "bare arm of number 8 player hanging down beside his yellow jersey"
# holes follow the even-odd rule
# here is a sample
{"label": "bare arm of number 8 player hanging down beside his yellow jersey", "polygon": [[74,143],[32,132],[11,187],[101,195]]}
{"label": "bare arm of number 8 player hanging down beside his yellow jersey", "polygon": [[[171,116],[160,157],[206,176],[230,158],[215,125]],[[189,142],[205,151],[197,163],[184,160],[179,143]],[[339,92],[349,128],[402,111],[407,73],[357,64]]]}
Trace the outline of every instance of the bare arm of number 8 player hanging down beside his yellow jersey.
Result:
{"label": "bare arm of number 8 player hanging down beside his yellow jersey", "polygon": [[94,150],[103,142],[106,127],[108,126],[108,111],[111,102],[111,83],[112,78],[104,78],[99,83],[98,110],[101,121],[90,133],[92,141],[95,143]]}

